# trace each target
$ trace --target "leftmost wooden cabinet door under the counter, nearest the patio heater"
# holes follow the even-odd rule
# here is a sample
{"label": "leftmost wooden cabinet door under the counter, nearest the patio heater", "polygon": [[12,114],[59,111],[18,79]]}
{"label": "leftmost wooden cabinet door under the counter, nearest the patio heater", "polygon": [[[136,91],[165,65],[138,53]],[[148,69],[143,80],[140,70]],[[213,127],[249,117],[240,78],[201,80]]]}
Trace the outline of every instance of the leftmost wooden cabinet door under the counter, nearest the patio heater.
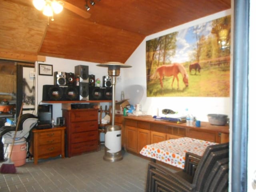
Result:
{"label": "leftmost wooden cabinet door under the counter, nearest the patio heater", "polygon": [[126,128],[126,150],[137,153],[137,128],[125,126]]}

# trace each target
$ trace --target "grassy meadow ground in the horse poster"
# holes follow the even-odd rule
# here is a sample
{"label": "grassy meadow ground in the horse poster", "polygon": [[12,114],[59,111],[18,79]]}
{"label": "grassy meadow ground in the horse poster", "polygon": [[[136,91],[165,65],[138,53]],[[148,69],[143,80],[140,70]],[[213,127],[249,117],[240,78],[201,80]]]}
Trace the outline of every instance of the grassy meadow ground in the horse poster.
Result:
{"label": "grassy meadow ground in the horse poster", "polygon": [[164,77],[163,89],[159,79],[151,80],[147,84],[148,97],[163,96],[197,96],[197,97],[229,97],[230,96],[230,67],[219,66],[204,68],[200,73],[194,71],[188,73],[189,85],[186,88],[181,74],[178,74],[179,89],[177,80],[174,80],[172,88],[172,77]]}

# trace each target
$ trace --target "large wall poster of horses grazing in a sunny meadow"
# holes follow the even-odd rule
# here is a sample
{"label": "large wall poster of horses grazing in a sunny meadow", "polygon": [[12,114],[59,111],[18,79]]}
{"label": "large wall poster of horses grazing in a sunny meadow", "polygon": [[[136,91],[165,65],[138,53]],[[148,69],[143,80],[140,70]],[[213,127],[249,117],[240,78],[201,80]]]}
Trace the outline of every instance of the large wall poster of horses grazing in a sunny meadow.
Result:
{"label": "large wall poster of horses grazing in a sunny meadow", "polygon": [[[147,96],[230,96],[231,16],[146,41]],[[228,31],[225,48],[220,30]]]}

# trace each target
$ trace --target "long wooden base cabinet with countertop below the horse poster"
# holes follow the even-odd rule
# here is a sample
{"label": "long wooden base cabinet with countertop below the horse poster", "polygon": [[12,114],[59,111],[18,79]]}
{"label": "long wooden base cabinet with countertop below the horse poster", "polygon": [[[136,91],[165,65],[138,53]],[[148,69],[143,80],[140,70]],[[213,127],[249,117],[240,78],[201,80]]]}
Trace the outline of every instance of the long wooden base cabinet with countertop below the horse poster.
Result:
{"label": "long wooden base cabinet with countertop below the horse poster", "polygon": [[124,118],[125,149],[134,153],[147,144],[180,137],[190,137],[211,142],[229,141],[229,126],[214,126],[201,122],[201,127],[186,126],[185,123],[157,121],[152,116],[127,116]]}

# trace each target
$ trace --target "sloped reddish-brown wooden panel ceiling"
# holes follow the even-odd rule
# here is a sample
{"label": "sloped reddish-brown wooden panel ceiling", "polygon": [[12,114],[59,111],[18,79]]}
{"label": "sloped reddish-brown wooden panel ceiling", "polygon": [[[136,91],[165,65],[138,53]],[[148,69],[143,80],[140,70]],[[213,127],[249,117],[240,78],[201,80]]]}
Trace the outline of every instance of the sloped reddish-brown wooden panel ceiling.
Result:
{"label": "sloped reddish-brown wooden panel ceiling", "polygon": [[[65,1],[63,0],[65,3]],[[85,0],[66,2],[86,11]],[[91,16],[66,8],[49,21],[32,0],[0,0],[0,58],[53,56],[126,62],[150,34],[231,8],[231,0],[94,0]]]}

